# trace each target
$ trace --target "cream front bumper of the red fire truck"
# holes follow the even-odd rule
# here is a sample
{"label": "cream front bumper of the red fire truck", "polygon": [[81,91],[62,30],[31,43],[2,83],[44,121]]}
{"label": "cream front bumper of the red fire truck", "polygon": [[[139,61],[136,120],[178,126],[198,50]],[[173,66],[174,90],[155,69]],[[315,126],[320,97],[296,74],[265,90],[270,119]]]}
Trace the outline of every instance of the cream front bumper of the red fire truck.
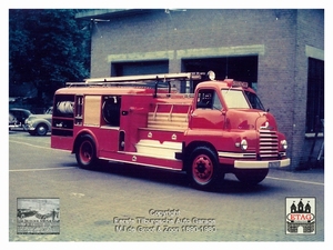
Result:
{"label": "cream front bumper of the red fire truck", "polygon": [[290,166],[290,159],[271,160],[271,161],[234,161],[235,169],[268,169],[268,168],[285,168]]}

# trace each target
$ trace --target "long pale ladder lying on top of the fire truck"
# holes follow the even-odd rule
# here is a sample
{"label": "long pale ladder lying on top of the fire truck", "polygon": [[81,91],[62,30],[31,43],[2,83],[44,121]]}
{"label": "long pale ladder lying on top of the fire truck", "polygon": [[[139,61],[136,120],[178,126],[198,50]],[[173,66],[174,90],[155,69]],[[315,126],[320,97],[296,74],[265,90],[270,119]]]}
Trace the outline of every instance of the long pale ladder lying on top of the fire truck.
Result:
{"label": "long pale ladder lying on top of the fire truck", "polygon": [[201,80],[204,72],[184,72],[184,73],[159,73],[125,77],[107,77],[84,79],[84,82],[67,82],[67,87],[108,87],[108,86],[144,86],[155,89],[154,97],[158,93],[159,83],[165,83],[171,92],[170,81]]}

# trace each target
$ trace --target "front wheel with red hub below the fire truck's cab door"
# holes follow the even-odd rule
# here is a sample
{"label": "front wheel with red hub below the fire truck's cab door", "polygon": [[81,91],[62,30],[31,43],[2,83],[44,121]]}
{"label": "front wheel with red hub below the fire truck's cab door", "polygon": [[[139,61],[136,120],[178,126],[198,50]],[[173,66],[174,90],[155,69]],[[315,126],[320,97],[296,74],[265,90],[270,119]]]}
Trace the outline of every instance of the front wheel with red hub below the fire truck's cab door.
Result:
{"label": "front wheel with red hub below the fire truck's cab door", "polygon": [[188,176],[194,188],[200,190],[218,188],[224,179],[216,154],[208,147],[193,150],[188,162]]}

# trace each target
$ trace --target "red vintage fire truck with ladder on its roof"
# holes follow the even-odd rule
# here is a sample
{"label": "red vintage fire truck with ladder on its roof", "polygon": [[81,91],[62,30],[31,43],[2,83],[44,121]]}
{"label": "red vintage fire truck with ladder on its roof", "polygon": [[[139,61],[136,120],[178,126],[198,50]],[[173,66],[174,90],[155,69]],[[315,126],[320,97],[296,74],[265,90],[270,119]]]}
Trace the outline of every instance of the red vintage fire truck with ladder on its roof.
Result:
{"label": "red vintage fire truck with ladder on its roof", "polygon": [[[175,88],[193,82],[194,93]],[[84,169],[105,160],[182,171],[208,190],[225,173],[255,184],[290,164],[285,137],[255,92],[211,71],[68,82],[54,93],[52,116],[51,147],[71,151]]]}

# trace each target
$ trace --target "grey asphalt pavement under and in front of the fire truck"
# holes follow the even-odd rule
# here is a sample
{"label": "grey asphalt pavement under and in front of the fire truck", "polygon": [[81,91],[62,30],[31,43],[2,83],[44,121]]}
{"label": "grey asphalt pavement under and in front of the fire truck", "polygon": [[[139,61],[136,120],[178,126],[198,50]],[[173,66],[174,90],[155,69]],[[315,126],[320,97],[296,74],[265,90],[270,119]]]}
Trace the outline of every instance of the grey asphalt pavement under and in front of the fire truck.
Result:
{"label": "grey asphalt pavement under and in front of the fire truck", "polygon": [[[109,164],[98,171],[83,170],[78,168],[74,156],[50,149],[48,138],[10,136],[10,242],[327,240],[324,238],[327,223],[324,223],[323,214],[327,176],[324,168],[302,171],[271,169],[266,179],[252,189],[240,184],[234,176],[226,174],[223,190],[203,192],[190,188],[184,176],[174,172],[123,166],[110,168]],[[285,198],[307,196],[317,201],[316,234],[286,236]],[[59,198],[60,233],[19,234],[18,198]],[[164,212],[162,217],[159,217],[159,210]],[[175,220],[173,214],[182,219],[176,226],[170,221],[160,221],[162,224],[152,221],[161,218]],[[168,223],[174,227],[164,228]],[[159,229],[167,231],[159,232]]]}

